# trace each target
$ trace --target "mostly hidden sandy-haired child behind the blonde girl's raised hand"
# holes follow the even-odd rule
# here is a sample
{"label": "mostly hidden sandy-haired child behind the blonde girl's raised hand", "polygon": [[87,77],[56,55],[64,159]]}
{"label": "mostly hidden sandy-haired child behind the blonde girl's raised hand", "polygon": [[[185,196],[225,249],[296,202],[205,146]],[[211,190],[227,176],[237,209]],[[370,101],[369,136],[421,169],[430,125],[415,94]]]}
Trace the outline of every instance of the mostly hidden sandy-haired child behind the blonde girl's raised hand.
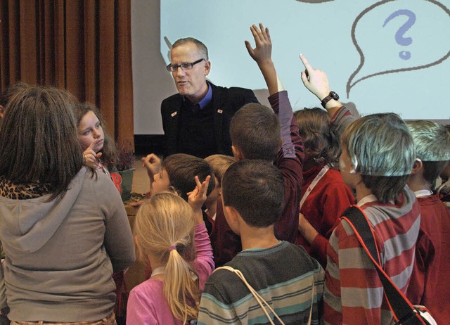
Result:
{"label": "mostly hidden sandy-haired child behind the blonde girl's raised hand", "polygon": [[217,200],[220,197],[221,180],[228,167],[233,164],[236,160],[229,155],[210,155],[205,158],[205,161],[210,164],[212,172],[214,173],[215,186],[214,190],[206,198],[205,205],[207,215],[211,217],[212,220],[216,219],[217,212]]}

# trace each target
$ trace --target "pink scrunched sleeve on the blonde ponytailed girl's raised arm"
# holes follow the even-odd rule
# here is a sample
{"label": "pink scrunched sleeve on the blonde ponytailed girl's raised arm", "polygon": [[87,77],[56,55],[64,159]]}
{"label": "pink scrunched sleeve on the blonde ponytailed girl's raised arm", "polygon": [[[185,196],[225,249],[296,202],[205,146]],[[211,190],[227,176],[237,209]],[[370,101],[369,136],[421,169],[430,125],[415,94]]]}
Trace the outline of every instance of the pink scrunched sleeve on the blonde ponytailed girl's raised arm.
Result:
{"label": "pink scrunched sleeve on the blonde ponytailed girl's raised arm", "polygon": [[203,291],[208,276],[214,270],[210,236],[208,236],[204,222],[195,226],[194,236],[197,258],[195,258],[193,265],[197,272],[200,291]]}

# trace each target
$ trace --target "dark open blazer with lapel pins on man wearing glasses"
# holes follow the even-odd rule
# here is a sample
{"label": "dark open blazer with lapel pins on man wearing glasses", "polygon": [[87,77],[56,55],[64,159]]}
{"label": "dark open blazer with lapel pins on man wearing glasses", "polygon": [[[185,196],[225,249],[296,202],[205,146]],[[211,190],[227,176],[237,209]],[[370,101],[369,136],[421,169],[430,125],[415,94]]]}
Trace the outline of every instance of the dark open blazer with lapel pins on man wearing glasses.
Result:
{"label": "dark open blazer with lapel pins on man wearing glasses", "polygon": [[[246,103],[258,103],[250,89],[238,87],[219,87],[211,84],[212,106],[214,108],[214,135],[217,153],[233,155],[231,151],[230,122],[231,117]],[[165,98],[161,103],[162,129],[165,137],[165,155],[179,153],[177,135],[179,131],[180,110],[183,96],[180,94]],[[202,144],[198,144],[201,146]]]}

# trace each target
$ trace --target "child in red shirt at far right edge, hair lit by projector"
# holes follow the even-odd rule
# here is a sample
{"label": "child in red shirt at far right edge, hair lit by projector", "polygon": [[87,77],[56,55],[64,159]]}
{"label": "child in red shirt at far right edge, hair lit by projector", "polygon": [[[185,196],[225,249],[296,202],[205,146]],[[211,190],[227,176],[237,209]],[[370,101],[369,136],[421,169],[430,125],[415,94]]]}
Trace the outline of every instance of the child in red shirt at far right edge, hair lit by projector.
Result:
{"label": "child in red shirt at far right edge, hair lit by projector", "polygon": [[450,242],[450,211],[432,193],[432,185],[450,160],[450,134],[432,121],[406,122],[413,136],[418,158],[408,180],[420,204],[420,231],[416,243],[416,260],[407,297],[414,305],[429,306],[438,324],[450,319],[450,269],[447,258]]}

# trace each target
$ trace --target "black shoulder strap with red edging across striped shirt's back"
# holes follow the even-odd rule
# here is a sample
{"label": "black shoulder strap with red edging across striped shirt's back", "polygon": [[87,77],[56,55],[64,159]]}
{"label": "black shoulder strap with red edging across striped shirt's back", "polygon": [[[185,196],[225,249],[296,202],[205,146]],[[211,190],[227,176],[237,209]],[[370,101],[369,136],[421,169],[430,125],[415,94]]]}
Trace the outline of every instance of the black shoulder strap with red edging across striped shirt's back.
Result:
{"label": "black shoulder strap with red edging across striped shirt's back", "polygon": [[375,245],[375,238],[372,227],[366,217],[366,214],[357,205],[347,208],[342,214],[350,227],[352,227],[356,237],[358,237],[361,246],[366,250],[368,257],[371,258],[375,269],[380,276],[385,289],[385,297],[390,309],[394,314],[397,324],[427,324],[416,312],[416,308],[409,302],[408,298],[397,288],[394,282],[380,266],[380,256],[378,248]]}

